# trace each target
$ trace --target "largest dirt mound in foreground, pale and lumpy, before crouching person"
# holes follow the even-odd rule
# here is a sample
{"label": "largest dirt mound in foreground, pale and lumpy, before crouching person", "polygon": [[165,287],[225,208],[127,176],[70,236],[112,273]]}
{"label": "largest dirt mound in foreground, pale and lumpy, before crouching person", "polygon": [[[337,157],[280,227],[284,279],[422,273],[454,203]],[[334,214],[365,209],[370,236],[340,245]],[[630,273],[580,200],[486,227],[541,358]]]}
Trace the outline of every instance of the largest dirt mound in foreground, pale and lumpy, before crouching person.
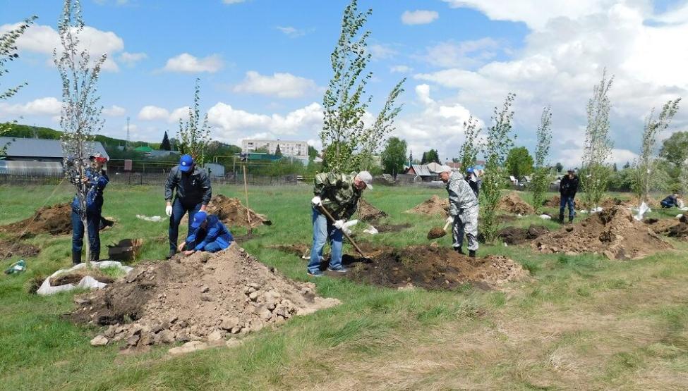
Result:
{"label": "largest dirt mound in foreground, pale and lumpy, before crouching person", "polygon": [[243,249],[143,263],[80,299],[77,323],[111,325],[104,337],[128,346],[221,340],[339,304],[315,295]]}

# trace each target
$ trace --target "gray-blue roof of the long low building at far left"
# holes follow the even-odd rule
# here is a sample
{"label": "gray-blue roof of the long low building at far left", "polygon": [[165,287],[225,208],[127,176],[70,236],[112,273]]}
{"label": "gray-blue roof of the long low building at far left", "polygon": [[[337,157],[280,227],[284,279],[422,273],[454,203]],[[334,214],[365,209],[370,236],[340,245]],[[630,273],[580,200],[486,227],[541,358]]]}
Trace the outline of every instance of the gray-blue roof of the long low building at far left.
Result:
{"label": "gray-blue roof of the long low building at far left", "polygon": [[[62,163],[62,143],[59,139],[25,139],[0,137],[0,149],[7,147],[6,161],[45,161]],[[100,142],[90,142],[89,148],[109,159]]]}

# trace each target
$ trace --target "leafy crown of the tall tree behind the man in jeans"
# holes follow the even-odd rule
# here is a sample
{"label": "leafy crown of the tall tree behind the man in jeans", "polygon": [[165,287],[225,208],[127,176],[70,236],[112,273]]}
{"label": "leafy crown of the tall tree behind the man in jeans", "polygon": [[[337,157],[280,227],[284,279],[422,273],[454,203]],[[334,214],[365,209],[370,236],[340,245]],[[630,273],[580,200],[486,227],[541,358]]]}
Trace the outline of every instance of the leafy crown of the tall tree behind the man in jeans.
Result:
{"label": "leafy crown of the tall tree behind the man in jeans", "polygon": [[330,56],[333,75],[322,98],[320,139],[325,161],[335,171],[358,170],[370,161],[370,156],[394,130],[394,118],[402,109],[396,101],[404,92],[406,79],[392,88],[373,123],[364,122],[372,101],[372,97],[366,97],[366,85],[373,73],[366,71],[371,56],[367,42],[370,31],[362,29],[372,13],[371,9],[358,12],[357,0],[344,8],[342,31]]}

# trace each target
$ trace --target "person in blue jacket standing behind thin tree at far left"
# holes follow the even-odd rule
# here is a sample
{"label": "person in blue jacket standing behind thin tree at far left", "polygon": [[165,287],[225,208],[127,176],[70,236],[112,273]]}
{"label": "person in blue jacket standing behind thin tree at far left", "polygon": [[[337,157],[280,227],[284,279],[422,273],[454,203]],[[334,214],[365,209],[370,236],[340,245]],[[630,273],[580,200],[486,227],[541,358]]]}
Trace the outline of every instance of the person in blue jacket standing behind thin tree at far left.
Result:
{"label": "person in blue jacket standing behind thin tree at far left", "polygon": [[86,193],[86,227],[81,221],[81,204],[79,197],[74,196],[72,201],[72,263],[81,263],[81,250],[83,249],[84,231],[88,232],[88,244],[90,249],[89,261],[97,261],[100,257],[100,220],[103,208],[103,190],[109,182],[107,174],[103,170],[107,159],[102,156],[90,156],[91,166],[86,168],[83,182],[87,185]]}

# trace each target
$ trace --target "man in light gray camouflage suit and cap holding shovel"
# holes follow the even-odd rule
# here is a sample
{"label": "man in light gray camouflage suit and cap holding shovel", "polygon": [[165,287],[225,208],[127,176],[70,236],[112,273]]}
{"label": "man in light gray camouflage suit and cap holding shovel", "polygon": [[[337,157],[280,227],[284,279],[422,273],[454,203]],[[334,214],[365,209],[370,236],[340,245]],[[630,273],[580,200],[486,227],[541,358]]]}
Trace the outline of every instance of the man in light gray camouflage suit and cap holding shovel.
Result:
{"label": "man in light gray camouflage suit and cap holding shovel", "polygon": [[453,224],[454,250],[464,254],[461,244],[464,243],[465,233],[469,242],[469,256],[475,258],[478,249],[478,199],[461,173],[452,173],[452,168],[448,166],[442,166],[440,170],[440,179],[447,184],[449,193],[447,223]]}

